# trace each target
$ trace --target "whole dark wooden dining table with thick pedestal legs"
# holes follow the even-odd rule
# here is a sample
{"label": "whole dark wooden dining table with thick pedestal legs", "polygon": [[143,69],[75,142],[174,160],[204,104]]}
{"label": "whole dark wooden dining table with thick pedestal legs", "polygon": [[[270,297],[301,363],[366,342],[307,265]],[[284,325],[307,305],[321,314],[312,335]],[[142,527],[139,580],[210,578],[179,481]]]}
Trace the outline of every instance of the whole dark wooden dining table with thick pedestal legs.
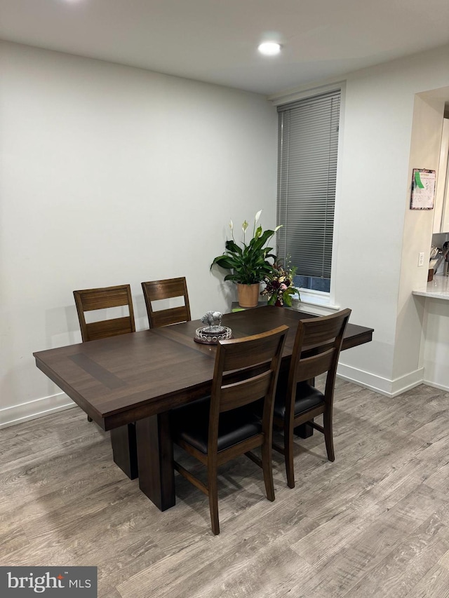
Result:
{"label": "whole dark wooden dining table with thick pedestal legs", "polygon": [[[288,369],[297,322],[313,314],[263,306],[223,315],[234,338],[289,327],[281,369]],[[161,510],[175,504],[170,409],[210,394],[216,347],[194,341],[200,320],[130,332],[33,353],[36,366],[103,430],[114,461]],[[349,324],[342,349],[373,338]]]}

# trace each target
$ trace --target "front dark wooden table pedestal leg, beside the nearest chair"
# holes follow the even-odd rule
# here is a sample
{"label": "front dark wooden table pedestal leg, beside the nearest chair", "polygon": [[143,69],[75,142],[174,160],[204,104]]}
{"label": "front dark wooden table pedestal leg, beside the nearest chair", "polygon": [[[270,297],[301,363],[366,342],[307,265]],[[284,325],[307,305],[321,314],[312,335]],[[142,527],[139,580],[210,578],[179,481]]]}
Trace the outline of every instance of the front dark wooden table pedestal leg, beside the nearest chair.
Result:
{"label": "front dark wooden table pedestal leg, beside the nearest chair", "polygon": [[135,422],[139,487],[161,511],[175,505],[173,444],[169,412]]}

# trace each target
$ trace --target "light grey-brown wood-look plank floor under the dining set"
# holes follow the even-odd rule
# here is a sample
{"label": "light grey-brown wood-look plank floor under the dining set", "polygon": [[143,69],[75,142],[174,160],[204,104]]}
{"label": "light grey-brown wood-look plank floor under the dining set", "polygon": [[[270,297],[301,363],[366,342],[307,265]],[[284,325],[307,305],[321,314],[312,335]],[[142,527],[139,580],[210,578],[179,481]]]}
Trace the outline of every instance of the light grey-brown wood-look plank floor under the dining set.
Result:
{"label": "light grey-brown wood-look plank floor under the dining set", "polygon": [[222,468],[217,537],[206,496],[177,476],[159,512],[77,407],[1,430],[0,564],[95,565],[105,598],[449,597],[449,393],[338,380],[334,427],[335,463],[297,440],[295,489],[274,453],[274,503]]}

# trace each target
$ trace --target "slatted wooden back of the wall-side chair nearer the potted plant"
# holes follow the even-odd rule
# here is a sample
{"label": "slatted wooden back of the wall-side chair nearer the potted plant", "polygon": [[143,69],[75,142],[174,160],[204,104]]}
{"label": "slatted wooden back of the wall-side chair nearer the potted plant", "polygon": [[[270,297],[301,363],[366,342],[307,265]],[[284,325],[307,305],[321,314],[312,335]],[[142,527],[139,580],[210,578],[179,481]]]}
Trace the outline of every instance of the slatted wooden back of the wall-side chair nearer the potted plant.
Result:
{"label": "slatted wooden back of the wall-side chair nearer the potted plant", "polygon": [[[178,322],[189,322],[191,320],[189,294],[187,293],[187,283],[184,276],[142,283],[142,291],[145,297],[145,305],[147,306],[150,328],[159,328],[160,326],[177,324]],[[173,299],[174,297],[182,297],[184,305],[154,310],[153,301]]]}

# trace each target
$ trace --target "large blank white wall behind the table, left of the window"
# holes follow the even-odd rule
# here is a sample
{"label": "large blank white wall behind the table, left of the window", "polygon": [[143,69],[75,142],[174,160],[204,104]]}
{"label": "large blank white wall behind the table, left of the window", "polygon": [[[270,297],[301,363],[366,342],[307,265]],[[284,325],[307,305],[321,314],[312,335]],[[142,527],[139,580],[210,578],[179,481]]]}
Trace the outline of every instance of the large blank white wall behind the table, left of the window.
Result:
{"label": "large blank white wall behind the table, left of the window", "polygon": [[62,407],[33,351],[81,341],[72,291],[186,276],[192,317],[229,311],[209,266],[276,219],[275,109],[259,95],[0,46],[0,425]]}

